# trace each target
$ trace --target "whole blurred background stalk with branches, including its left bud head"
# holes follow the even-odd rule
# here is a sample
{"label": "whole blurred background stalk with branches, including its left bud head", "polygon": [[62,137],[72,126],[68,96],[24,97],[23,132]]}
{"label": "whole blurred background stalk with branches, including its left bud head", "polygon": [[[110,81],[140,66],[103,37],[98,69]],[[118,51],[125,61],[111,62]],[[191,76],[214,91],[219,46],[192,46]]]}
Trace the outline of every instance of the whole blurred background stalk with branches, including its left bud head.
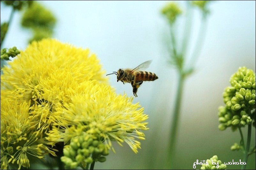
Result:
{"label": "whole blurred background stalk with branches, including its left bud head", "polygon": [[197,4],[193,6],[198,6],[199,2],[191,3],[191,1],[187,1],[187,19],[185,23],[184,28],[184,35],[183,35],[183,41],[181,42],[181,50],[177,48],[177,38],[175,34],[175,30],[177,29],[175,27],[175,22],[177,21],[178,17],[182,14],[182,11],[177,3],[169,3],[162,9],[162,14],[168,19],[169,21],[169,27],[170,27],[170,59],[169,62],[172,66],[174,66],[177,69],[178,72],[178,85],[177,85],[177,93],[175,98],[175,108],[173,111],[173,117],[172,117],[172,124],[169,134],[169,143],[170,146],[168,148],[168,169],[173,169],[174,164],[174,158],[175,158],[175,142],[177,138],[177,126],[179,122],[179,115],[180,115],[180,107],[181,107],[181,101],[182,101],[182,92],[184,87],[185,79],[188,75],[190,75],[194,70],[195,62],[200,54],[200,49],[203,45],[203,39],[205,37],[206,32],[206,14],[205,9],[207,2],[204,2],[204,4],[200,4],[200,10],[202,14],[202,22],[200,25],[200,31],[198,34],[198,38],[196,40],[195,48],[192,51],[192,55],[190,57],[190,61],[186,61],[187,57],[187,47],[188,43],[190,42],[190,33],[192,32],[192,14],[191,14],[191,7],[192,4]]}

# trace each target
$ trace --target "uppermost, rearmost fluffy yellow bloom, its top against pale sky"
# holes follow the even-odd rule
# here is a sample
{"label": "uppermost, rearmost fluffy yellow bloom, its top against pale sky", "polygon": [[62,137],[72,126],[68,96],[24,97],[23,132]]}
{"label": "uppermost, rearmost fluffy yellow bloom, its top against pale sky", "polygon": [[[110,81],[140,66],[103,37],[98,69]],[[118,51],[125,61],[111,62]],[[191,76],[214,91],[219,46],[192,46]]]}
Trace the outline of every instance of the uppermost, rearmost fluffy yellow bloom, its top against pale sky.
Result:
{"label": "uppermost, rearmost fluffy yellow bloom, its top against pale sky", "polygon": [[[30,44],[4,67],[1,75],[1,98],[31,102],[33,122],[47,131],[55,105],[76,93],[79,83],[92,80],[106,83],[99,60],[89,50],[44,39]],[[43,127],[43,128],[41,128]]]}

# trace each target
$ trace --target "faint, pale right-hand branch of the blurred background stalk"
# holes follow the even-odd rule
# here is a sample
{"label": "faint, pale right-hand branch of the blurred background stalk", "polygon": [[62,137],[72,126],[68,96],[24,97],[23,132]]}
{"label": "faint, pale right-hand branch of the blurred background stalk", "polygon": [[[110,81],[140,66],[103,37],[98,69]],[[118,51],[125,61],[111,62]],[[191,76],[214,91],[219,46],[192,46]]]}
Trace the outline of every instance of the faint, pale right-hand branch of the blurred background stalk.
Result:
{"label": "faint, pale right-hand branch of the blurred background stalk", "polygon": [[195,47],[194,47],[194,50],[193,50],[193,53],[191,56],[191,61],[189,62],[189,64],[190,64],[189,70],[193,68],[195,62],[197,61],[197,58],[199,57],[200,51],[203,47],[203,42],[204,42],[206,30],[207,30],[207,28],[206,28],[207,22],[206,21],[207,21],[207,17],[202,16],[202,22],[201,22],[200,29],[198,32],[198,37],[197,37],[196,44],[195,44]]}

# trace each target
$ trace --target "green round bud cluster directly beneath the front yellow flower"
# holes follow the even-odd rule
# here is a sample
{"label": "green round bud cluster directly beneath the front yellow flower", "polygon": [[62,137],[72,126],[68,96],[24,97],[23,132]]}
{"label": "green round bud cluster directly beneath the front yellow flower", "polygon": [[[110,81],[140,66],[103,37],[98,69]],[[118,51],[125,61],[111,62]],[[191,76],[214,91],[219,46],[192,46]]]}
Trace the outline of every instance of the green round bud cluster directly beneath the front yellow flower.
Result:
{"label": "green round bud cluster directly beneath the front yellow flower", "polygon": [[61,161],[65,163],[65,168],[75,169],[87,167],[93,161],[105,162],[109,149],[99,136],[84,133],[73,137],[70,144],[64,147],[63,153]]}

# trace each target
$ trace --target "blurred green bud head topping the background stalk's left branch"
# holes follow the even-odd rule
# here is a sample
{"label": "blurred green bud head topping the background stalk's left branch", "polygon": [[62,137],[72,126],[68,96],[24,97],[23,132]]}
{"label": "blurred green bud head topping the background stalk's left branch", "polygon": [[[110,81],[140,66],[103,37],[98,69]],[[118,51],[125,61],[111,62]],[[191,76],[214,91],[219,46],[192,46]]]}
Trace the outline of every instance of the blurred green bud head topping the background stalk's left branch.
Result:
{"label": "blurred green bud head topping the background stalk's left branch", "polygon": [[177,18],[182,13],[177,3],[171,2],[165,5],[162,9],[162,14],[167,17],[170,24],[173,24]]}

